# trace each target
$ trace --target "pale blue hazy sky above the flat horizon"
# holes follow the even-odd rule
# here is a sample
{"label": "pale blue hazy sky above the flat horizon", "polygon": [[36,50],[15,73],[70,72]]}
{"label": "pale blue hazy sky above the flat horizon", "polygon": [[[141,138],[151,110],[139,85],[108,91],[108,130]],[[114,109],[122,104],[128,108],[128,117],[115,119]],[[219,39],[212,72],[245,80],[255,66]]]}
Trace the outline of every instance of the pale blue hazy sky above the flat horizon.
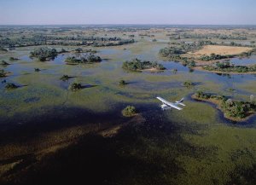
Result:
{"label": "pale blue hazy sky above the flat horizon", "polygon": [[256,0],[0,0],[0,25],[256,25]]}

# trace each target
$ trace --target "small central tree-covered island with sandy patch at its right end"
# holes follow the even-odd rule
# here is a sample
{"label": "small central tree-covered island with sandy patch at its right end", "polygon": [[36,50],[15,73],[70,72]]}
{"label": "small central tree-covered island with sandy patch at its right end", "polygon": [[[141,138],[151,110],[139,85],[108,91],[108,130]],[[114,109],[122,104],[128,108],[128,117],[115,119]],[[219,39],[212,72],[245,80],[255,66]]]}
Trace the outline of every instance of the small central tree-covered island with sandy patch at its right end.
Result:
{"label": "small central tree-covered island with sandy patch at its right end", "polygon": [[125,61],[122,67],[127,71],[133,71],[133,72],[142,72],[142,71],[157,72],[157,71],[162,71],[166,69],[166,67],[164,67],[162,64],[159,64],[156,61],[141,61],[137,58],[132,59],[131,61]]}

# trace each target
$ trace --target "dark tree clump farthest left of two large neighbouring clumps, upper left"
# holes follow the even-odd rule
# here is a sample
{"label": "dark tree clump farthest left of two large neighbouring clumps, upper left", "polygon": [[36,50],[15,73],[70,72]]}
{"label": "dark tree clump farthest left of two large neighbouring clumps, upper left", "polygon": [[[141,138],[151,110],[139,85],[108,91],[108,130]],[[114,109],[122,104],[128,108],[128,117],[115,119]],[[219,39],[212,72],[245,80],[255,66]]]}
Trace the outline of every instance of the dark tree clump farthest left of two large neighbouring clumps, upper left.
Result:
{"label": "dark tree clump farthest left of two large neighbouring clumps, upper left", "polygon": [[46,47],[34,49],[32,52],[30,52],[30,56],[38,58],[39,61],[47,61],[49,59],[54,59],[57,55],[58,52],[56,49],[49,49]]}

